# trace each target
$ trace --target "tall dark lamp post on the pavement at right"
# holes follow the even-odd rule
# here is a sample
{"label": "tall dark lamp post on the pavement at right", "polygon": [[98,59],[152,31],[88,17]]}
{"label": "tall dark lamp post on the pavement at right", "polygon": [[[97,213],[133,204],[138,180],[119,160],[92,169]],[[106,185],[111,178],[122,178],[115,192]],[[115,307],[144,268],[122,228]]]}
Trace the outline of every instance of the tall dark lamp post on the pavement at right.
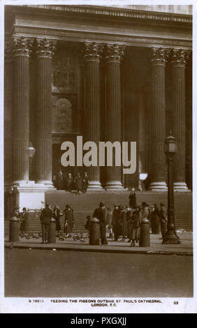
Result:
{"label": "tall dark lamp post on the pavement at right", "polygon": [[172,132],[166,137],[164,151],[168,161],[168,226],[163,244],[179,244],[180,239],[175,232],[175,207],[174,207],[174,156],[177,144]]}

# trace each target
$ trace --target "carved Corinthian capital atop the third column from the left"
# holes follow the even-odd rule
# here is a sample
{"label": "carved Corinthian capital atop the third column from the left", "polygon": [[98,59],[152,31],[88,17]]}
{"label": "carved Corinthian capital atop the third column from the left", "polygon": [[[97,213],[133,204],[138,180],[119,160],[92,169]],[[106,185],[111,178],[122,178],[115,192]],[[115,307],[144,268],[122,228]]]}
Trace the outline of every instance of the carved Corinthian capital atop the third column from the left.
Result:
{"label": "carved Corinthian capital atop the third column from the left", "polygon": [[100,61],[101,53],[103,52],[103,43],[85,42],[85,61]]}

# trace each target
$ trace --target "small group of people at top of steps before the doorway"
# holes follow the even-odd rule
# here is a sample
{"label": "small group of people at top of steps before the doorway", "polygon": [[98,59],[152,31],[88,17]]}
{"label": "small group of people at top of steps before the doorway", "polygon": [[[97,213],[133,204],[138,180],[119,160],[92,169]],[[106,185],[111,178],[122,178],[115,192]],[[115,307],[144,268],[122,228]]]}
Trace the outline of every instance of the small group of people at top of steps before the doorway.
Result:
{"label": "small group of people at top of steps before the doorway", "polygon": [[53,184],[57,190],[66,190],[73,191],[76,190],[78,195],[80,193],[86,193],[87,186],[89,184],[87,172],[83,172],[82,174],[78,173],[76,177],[73,178],[71,173],[63,174],[61,170],[59,170],[57,175],[53,176]]}

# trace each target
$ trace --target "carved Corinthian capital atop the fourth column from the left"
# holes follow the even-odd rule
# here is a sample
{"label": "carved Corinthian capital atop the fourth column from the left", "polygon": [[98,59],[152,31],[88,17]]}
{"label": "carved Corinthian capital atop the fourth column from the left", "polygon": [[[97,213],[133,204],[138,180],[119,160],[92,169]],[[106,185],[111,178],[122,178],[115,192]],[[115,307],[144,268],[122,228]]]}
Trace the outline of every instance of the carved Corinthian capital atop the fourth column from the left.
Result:
{"label": "carved Corinthian capital atop the fourth column from the left", "polygon": [[117,45],[107,43],[106,44],[106,59],[108,63],[117,63],[120,64],[126,50],[126,45]]}

